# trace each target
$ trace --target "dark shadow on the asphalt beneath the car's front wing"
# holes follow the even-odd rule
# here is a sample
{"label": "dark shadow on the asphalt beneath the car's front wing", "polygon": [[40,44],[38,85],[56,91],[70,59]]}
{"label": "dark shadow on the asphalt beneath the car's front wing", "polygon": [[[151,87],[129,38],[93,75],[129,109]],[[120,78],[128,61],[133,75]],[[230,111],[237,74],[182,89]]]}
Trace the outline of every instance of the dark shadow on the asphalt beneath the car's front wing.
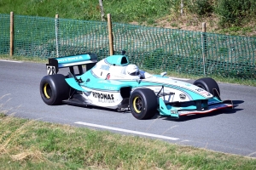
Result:
{"label": "dark shadow on the asphalt beneath the car's front wing", "polygon": [[162,117],[162,120],[166,120],[166,121],[185,122],[185,121],[190,121],[190,120],[193,120],[193,119],[199,119],[199,118],[203,118],[203,117],[218,116],[220,114],[234,114],[234,113],[236,113],[236,111],[242,111],[243,110],[241,108],[237,108],[240,104],[244,103],[243,100],[232,100],[232,102],[233,102],[233,106],[234,106],[233,109],[227,108],[227,109],[223,109],[223,110],[219,110],[219,111],[213,111],[213,112],[207,113],[207,114],[180,116],[179,118],[173,118],[173,117],[170,117],[170,116],[160,116],[159,114],[156,114],[153,117],[153,119]]}

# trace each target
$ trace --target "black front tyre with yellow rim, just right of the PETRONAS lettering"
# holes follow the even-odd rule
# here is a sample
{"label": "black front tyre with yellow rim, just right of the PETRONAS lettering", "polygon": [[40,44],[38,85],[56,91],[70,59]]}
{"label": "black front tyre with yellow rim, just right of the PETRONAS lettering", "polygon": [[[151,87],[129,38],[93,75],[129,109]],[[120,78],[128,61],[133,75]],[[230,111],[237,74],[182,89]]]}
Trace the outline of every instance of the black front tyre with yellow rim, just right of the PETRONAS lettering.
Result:
{"label": "black front tyre with yellow rim, just right of the PETRONAS lettering", "polygon": [[154,91],[149,88],[137,88],[131,94],[129,105],[132,116],[139,120],[152,118],[157,109]]}

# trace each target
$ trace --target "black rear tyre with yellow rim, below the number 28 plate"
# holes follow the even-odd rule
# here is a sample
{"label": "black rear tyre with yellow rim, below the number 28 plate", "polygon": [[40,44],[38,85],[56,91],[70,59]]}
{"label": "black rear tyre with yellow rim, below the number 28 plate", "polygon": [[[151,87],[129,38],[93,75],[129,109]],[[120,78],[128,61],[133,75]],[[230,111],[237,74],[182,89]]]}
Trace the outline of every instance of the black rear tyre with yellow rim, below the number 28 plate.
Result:
{"label": "black rear tyre with yellow rim, below the number 28 plate", "polygon": [[68,99],[69,86],[61,74],[49,75],[40,82],[40,94],[47,105],[60,105],[61,101]]}

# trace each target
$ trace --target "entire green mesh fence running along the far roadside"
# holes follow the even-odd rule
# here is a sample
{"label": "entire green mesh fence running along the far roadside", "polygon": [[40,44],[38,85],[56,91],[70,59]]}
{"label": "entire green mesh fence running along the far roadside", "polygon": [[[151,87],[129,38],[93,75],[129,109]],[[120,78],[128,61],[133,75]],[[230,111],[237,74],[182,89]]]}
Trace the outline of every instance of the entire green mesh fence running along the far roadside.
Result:
{"label": "entire green mesh fence running along the far roadside", "polygon": [[[15,15],[14,54],[53,58],[109,55],[108,23]],[[9,54],[9,14],[0,14],[0,54]],[[141,68],[194,75],[256,78],[256,37],[113,23],[114,54]],[[203,56],[205,59],[203,59]]]}

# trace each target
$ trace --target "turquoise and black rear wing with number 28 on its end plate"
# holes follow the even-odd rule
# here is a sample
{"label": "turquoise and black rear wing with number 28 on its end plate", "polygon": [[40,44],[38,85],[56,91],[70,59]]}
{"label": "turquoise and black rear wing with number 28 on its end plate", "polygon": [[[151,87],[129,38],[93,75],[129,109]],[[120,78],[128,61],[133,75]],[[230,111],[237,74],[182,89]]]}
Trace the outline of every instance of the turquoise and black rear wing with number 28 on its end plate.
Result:
{"label": "turquoise and black rear wing with number 28 on its end plate", "polygon": [[49,64],[46,64],[46,70],[48,75],[57,74],[59,69],[69,67],[70,72],[74,75],[74,66],[78,66],[79,75],[84,73],[82,65],[86,66],[86,71],[90,70],[96,65],[97,56],[96,54],[80,54],[67,57],[59,57],[49,59]]}

